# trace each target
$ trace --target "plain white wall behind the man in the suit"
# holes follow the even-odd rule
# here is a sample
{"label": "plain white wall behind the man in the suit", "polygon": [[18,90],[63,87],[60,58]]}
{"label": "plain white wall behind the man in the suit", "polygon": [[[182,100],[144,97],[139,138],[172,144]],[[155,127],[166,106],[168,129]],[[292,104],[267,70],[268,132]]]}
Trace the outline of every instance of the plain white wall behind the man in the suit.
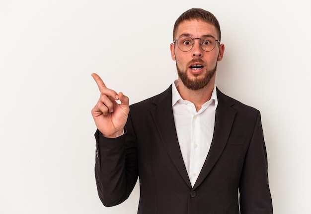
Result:
{"label": "plain white wall behind the man in the suit", "polygon": [[1,214],[137,213],[138,185],[117,207],[97,196],[90,74],[131,104],[162,92],[191,7],[220,21],[218,87],[261,111],[274,213],[311,213],[309,0],[0,0]]}

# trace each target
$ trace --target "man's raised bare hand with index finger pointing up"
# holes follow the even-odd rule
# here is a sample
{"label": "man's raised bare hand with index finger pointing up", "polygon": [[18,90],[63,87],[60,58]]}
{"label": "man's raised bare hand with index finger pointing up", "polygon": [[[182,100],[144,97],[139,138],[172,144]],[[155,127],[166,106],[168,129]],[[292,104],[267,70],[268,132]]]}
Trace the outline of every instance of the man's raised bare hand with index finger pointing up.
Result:
{"label": "man's raised bare hand with index finger pointing up", "polygon": [[[130,112],[129,98],[108,89],[97,74],[93,73],[92,77],[100,91],[100,98],[91,111],[95,125],[105,137],[121,136]],[[121,103],[118,104],[117,100]]]}

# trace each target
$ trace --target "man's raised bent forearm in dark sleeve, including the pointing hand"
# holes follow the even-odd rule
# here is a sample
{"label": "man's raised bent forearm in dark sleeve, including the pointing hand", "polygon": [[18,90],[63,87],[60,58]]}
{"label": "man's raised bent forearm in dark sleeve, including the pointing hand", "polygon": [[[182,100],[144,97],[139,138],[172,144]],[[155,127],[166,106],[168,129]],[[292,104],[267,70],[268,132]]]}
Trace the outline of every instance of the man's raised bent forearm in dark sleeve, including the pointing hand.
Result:
{"label": "man's raised bent forearm in dark sleeve, including the pointing hand", "polygon": [[99,198],[110,207],[125,201],[135,186],[137,147],[136,140],[125,143],[131,138],[125,130],[130,111],[128,97],[108,89],[97,74],[92,77],[100,91],[100,98],[91,111],[97,126],[95,177]]}

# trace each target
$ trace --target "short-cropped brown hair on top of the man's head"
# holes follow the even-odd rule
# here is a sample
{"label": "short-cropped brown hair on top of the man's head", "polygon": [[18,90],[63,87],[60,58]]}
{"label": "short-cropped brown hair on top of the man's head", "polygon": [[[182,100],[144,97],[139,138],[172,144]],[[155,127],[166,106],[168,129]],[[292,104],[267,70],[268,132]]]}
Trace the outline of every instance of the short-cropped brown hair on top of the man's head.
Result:
{"label": "short-cropped brown hair on top of the man's head", "polygon": [[221,31],[220,31],[220,25],[217,20],[217,18],[209,11],[201,9],[201,8],[192,8],[188,9],[187,11],[183,12],[175,21],[174,24],[174,29],[173,29],[173,40],[177,39],[176,38],[176,31],[179,26],[179,24],[183,21],[191,20],[191,19],[196,19],[196,20],[202,20],[207,23],[210,23],[214,25],[217,29],[218,33],[218,40],[221,41]]}

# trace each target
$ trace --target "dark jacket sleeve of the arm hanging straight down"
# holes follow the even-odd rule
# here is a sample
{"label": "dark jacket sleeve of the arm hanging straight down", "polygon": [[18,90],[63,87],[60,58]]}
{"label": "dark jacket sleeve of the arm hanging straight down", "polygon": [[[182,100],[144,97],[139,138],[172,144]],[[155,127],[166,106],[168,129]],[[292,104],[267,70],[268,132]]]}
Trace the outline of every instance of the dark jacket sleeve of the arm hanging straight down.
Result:
{"label": "dark jacket sleeve of the arm hanging straight down", "polygon": [[259,111],[244,160],[239,192],[241,214],[273,213],[268,184],[267,152]]}

